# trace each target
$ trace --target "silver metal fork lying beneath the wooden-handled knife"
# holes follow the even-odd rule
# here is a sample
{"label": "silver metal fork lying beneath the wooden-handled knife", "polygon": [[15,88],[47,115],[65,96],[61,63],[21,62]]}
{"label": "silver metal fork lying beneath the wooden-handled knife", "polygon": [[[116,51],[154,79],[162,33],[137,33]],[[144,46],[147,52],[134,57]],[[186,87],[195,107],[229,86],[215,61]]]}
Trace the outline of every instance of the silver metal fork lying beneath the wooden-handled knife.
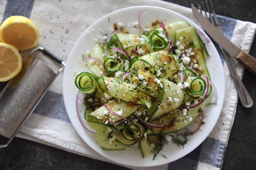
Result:
{"label": "silver metal fork lying beneath the wooden-handled knife", "polygon": [[[218,29],[218,31],[220,31],[221,33],[223,33],[222,29],[221,29],[221,25],[219,24],[219,21],[217,19],[217,15],[215,13],[215,10],[213,8],[213,3],[211,0],[210,1],[210,5],[211,5],[211,11],[208,5],[207,1],[202,2],[202,7],[200,6],[200,4],[198,4],[198,8],[200,9],[200,12],[203,14],[203,11],[205,12],[205,16],[206,18],[209,19],[209,21]],[[205,8],[206,6],[206,8]],[[203,9],[202,9],[203,8]],[[207,16],[207,12],[209,14],[209,17]],[[213,14],[213,17],[211,15],[211,13]],[[251,108],[253,106],[253,100],[251,99],[251,96],[249,95],[248,91],[246,90],[242,80],[240,79],[240,77],[238,76],[236,69],[231,61],[231,57],[229,56],[229,54],[223,50],[223,48],[219,45],[219,47],[221,48],[221,51],[223,53],[223,56],[225,58],[225,61],[228,65],[230,74],[234,80],[234,84],[236,86],[236,90],[238,93],[238,96],[240,98],[240,101],[243,105],[243,107],[245,108]]]}

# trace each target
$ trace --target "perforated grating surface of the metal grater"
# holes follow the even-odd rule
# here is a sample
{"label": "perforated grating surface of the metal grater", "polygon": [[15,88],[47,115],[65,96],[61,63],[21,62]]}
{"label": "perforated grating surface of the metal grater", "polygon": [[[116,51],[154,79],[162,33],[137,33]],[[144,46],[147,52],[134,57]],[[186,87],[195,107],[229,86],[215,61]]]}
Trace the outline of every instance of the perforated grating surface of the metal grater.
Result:
{"label": "perforated grating surface of the metal grater", "polygon": [[49,84],[49,73],[53,73],[49,67],[38,67],[37,62],[31,64],[25,74],[21,73],[21,78],[11,82],[0,99],[0,124],[8,124],[12,129],[21,118],[24,119],[22,113],[31,108],[31,104],[35,103],[33,100]]}

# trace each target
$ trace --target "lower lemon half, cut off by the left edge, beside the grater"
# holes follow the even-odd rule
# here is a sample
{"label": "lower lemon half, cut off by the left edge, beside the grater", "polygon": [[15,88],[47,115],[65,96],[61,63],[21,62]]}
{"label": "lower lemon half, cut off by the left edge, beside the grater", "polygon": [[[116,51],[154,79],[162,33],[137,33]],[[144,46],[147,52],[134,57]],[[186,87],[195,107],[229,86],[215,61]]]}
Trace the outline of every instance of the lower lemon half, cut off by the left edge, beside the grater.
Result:
{"label": "lower lemon half, cut off by the left edge, beside the grater", "polygon": [[17,48],[0,42],[0,82],[16,76],[22,67],[22,58]]}

